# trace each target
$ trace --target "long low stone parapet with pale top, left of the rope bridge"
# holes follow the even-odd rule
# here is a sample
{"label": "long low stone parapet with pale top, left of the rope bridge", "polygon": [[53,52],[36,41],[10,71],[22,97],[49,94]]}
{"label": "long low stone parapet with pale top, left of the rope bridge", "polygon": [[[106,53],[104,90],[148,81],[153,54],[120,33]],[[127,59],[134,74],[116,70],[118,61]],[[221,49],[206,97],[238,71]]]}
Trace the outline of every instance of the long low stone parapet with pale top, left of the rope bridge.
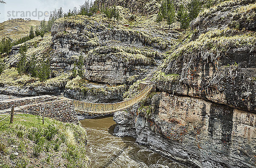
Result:
{"label": "long low stone parapet with pale top, left of the rope bridge", "polygon": [[21,105],[36,103],[39,101],[43,101],[43,102],[51,101],[51,100],[55,100],[56,98],[57,98],[56,96],[44,95],[44,96],[36,96],[36,97],[23,97],[23,98],[17,98],[17,99],[2,100],[0,101],[0,110],[5,110],[7,108],[10,108],[12,107],[12,105],[21,106]]}

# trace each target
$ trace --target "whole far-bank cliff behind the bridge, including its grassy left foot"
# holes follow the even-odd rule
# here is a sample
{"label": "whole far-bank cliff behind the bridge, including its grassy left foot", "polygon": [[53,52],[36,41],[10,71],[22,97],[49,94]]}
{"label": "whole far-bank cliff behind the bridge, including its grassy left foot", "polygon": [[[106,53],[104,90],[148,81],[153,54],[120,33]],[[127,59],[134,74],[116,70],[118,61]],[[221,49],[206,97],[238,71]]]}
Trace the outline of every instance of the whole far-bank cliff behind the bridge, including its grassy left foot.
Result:
{"label": "whole far-bank cliff behind the bridge, including its grassy left foot", "polygon": [[[126,9],[120,10],[124,11],[122,15],[127,14]],[[20,59],[17,53],[23,45],[20,44],[6,57],[10,68],[1,75],[0,93],[19,96],[64,94],[72,99],[97,103],[122,101],[128,85],[151,75],[163,60],[162,51],[171,45],[170,38],[178,36],[178,32],[175,37],[151,35],[148,30],[114,24],[101,14],[61,18],[43,40],[35,37],[26,42],[28,60],[34,54],[39,60],[49,58],[52,79],[41,82],[29,74],[18,75],[15,67]],[[83,80],[72,74],[79,55],[85,60]]]}

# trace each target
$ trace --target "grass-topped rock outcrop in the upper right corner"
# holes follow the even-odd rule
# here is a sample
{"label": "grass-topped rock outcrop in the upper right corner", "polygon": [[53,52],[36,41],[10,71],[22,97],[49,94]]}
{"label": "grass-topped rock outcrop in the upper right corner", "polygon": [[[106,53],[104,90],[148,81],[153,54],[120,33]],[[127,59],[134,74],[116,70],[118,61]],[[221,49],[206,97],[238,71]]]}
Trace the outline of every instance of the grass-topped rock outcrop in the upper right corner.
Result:
{"label": "grass-topped rock outcrop in the upper right corner", "polygon": [[192,21],[199,34],[227,27],[256,31],[255,0],[231,0],[206,9]]}

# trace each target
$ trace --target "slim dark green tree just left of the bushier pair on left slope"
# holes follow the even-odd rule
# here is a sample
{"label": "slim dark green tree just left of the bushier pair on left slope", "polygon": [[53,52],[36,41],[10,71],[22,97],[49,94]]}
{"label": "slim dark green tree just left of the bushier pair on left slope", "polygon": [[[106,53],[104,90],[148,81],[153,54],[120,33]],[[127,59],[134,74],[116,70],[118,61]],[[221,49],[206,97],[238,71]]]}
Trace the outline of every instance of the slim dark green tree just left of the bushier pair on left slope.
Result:
{"label": "slim dark green tree just left of the bushier pair on left slope", "polygon": [[28,51],[26,43],[23,46],[20,46],[20,61],[17,64],[17,71],[19,74],[24,74],[26,71],[26,52]]}

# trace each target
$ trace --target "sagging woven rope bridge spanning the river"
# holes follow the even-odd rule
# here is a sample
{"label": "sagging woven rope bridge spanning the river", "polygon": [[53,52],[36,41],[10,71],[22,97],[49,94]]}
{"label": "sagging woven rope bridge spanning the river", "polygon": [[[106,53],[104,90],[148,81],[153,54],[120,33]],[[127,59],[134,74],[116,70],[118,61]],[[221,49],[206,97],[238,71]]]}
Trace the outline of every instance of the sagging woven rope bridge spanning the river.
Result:
{"label": "sagging woven rope bridge spanning the river", "polygon": [[118,103],[88,103],[84,101],[74,100],[74,106],[76,111],[85,112],[88,114],[111,114],[115,111],[120,111],[125,108],[131,107],[135,103],[145,97],[151,91],[153,85],[146,86],[139,94],[136,96]]}

